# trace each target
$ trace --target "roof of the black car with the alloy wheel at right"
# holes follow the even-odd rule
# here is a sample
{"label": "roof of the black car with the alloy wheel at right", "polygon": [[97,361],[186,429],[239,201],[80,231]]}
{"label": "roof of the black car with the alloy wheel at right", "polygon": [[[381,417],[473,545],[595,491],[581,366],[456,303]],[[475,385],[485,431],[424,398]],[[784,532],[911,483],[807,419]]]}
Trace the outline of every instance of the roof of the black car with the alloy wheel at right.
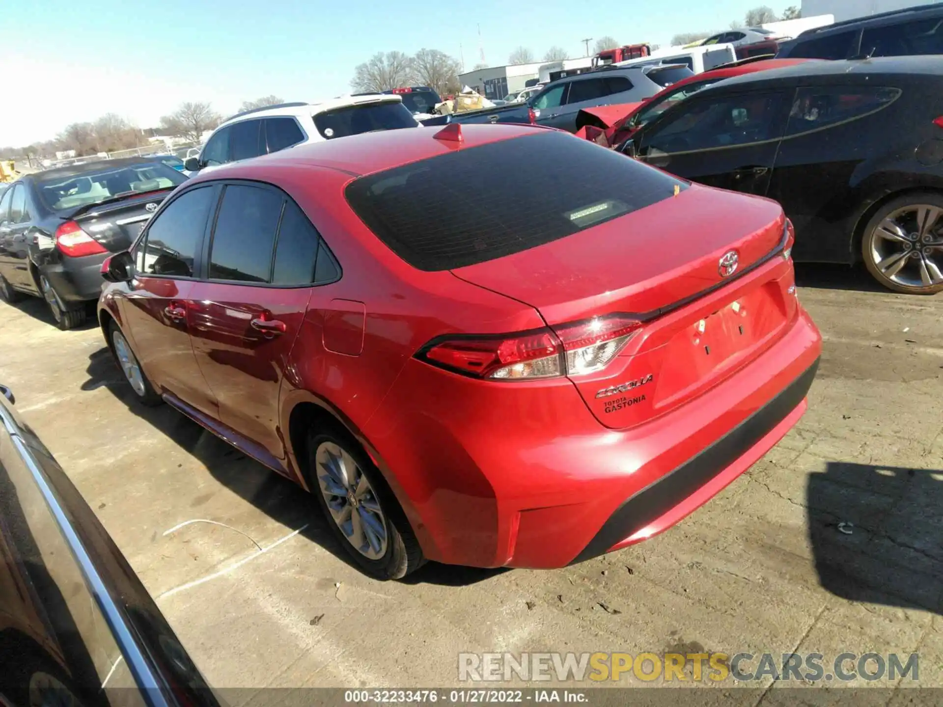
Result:
{"label": "roof of the black car with the alloy wheel at right", "polygon": [[[835,61],[802,61],[780,69],[740,74],[723,82],[724,87],[841,75],[943,74],[943,55],[920,57],[875,57]],[[713,88],[713,87],[712,87]]]}

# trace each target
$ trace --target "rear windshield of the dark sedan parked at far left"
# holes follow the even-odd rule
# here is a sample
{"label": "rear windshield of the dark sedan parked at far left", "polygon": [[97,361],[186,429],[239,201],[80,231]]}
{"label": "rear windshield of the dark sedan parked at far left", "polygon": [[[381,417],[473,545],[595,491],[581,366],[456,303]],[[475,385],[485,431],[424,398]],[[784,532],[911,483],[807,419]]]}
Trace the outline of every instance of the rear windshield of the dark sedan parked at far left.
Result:
{"label": "rear windshield of the dark sedan parked at far left", "polygon": [[173,189],[186,181],[184,174],[157,160],[36,175],[36,187],[42,202],[53,211],[97,204],[119,194]]}

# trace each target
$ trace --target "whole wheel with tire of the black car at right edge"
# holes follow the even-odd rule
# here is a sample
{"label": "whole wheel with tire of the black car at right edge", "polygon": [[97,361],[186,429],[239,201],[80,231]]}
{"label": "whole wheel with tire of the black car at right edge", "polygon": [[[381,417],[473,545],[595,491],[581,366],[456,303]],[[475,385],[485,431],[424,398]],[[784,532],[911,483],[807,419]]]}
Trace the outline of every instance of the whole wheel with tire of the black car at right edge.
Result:
{"label": "whole wheel with tire of the black car at right edge", "polygon": [[915,192],[882,206],[865,226],[861,255],[885,288],[943,291],[943,195]]}

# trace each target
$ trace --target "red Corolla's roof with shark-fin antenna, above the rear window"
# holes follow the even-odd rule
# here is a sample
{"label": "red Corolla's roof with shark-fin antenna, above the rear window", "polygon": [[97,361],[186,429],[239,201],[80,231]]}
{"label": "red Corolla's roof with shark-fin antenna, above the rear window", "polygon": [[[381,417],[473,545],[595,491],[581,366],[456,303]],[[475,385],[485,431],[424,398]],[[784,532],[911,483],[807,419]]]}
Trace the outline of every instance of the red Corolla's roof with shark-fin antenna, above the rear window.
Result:
{"label": "red Corolla's roof with shark-fin antenna, above the rear window", "polygon": [[[459,127],[455,127],[459,126]],[[439,140],[443,130],[460,131],[462,141]],[[269,155],[231,162],[210,173],[197,174],[190,182],[211,179],[253,179],[272,168],[323,167],[352,177],[383,172],[429,157],[447,155],[499,140],[510,140],[550,130],[538,125],[499,123],[488,125],[452,123],[448,128],[417,127],[351,135],[337,140],[320,140],[296,145]],[[574,138],[574,140],[578,140]]]}

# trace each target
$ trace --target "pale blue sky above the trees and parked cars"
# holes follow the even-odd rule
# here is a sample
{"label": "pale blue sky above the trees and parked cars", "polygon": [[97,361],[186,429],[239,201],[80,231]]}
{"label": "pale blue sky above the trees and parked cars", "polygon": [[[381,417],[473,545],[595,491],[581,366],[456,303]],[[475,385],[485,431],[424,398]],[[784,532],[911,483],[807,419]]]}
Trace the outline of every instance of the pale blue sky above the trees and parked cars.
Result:
{"label": "pale blue sky above the trees and parked cars", "polygon": [[478,24],[488,64],[501,65],[521,44],[538,58],[554,44],[581,56],[581,39],[604,35],[667,44],[761,4],[782,12],[800,1],[5,0],[4,81],[18,109],[0,112],[0,145],[48,140],[106,112],[146,127],[188,100],[228,114],[270,93],[335,96],[379,51],[440,49],[471,70]]}

